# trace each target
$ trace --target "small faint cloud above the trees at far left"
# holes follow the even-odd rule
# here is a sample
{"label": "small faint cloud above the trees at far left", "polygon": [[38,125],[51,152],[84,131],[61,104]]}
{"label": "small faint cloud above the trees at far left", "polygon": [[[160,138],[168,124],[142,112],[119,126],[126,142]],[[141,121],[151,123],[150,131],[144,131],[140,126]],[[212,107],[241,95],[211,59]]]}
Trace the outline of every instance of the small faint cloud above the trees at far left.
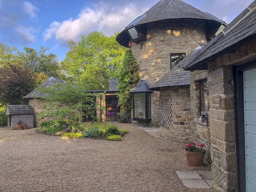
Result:
{"label": "small faint cloud above the trees at far left", "polygon": [[17,41],[20,41],[22,43],[33,43],[33,42],[37,41],[35,38],[36,30],[32,26],[25,27],[22,25],[18,25],[17,27],[15,27],[15,31],[18,36]]}

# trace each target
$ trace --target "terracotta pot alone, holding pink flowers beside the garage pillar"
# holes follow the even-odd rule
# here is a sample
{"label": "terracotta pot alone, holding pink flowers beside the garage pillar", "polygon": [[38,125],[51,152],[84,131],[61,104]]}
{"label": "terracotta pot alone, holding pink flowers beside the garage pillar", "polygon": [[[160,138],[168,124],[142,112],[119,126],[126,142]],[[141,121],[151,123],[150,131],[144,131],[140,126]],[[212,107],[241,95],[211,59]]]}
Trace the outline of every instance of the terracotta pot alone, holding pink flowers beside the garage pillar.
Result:
{"label": "terracotta pot alone, holding pink flowers beside the garage pillar", "polygon": [[185,148],[185,151],[186,151],[188,166],[190,167],[203,166],[205,150],[201,152],[190,152],[190,151],[187,151],[187,148]]}

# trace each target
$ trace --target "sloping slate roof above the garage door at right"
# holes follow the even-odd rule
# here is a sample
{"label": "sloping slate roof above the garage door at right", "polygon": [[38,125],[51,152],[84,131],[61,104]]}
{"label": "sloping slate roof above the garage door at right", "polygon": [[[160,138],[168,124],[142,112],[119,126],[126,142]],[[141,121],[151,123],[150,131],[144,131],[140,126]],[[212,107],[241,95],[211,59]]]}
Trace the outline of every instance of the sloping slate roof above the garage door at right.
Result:
{"label": "sloping slate roof above the garage door at right", "polygon": [[[238,17],[236,17],[221,33],[213,38],[201,50],[201,54],[185,70],[205,70],[207,61],[218,55],[234,52],[250,38],[256,37],[256,1],[250,4]],[[246,41],[247,40],[247,41]],[[241,43],[244,41],[244,43]]]}

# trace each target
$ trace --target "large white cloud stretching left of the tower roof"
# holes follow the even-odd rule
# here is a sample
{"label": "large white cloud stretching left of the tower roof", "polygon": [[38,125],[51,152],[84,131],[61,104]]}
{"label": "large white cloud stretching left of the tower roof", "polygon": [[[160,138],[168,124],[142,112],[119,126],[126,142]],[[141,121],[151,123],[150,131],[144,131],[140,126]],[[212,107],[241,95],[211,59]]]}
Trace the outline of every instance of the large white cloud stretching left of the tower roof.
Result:
{"label": "large white cloud stretching left of the tower roof", "polygon": [[79,41],[82,34],[92,31],[102,31],[105,35],[113,35],[122,31],[137,16],[147,9],[141,9],[130,4],[126,7],[109,7],[99,3],[93,9],[85,8],[76,19],[70,18],[62,22],[54,21],[43,32],[43,39],[47,41],[53,37],[62,43],[71,39]]}

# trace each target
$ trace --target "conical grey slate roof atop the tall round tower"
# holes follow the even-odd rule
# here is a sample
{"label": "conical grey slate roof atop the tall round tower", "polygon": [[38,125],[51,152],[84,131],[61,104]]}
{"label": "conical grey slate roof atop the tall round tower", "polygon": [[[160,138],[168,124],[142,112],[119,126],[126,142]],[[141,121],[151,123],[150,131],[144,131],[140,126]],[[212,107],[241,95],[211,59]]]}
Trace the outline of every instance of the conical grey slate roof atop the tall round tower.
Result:
{"label": "conical grey slate roof atop the tall round tower", "polygon": [[207,15],[199,9],[185,3],[183,0],[160,0],[145,12],[145,17],[140,19],[136,24],[140,25],[158,20],[181,18],[214,20],[219,22],[215,17]]}

